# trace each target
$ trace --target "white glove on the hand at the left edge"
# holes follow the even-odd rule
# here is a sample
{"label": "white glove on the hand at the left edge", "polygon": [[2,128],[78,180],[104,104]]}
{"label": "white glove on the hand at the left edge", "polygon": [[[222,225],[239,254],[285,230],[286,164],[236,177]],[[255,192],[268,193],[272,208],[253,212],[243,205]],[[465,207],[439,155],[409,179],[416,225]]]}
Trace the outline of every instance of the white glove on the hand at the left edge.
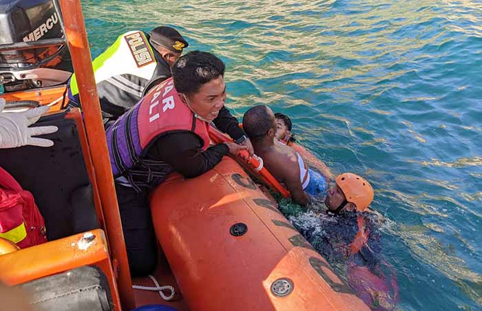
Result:
{"label": "white glove on the hand at the left edge", "polygon": [[14,148],[30,144],[39,147],[51,147],[52,140],[32,136],[56,132],[58,127],[28,127],[34,124],[50,107],[43,106],[23,112],[2,112],[6,101],[0,98],[0,149]]}

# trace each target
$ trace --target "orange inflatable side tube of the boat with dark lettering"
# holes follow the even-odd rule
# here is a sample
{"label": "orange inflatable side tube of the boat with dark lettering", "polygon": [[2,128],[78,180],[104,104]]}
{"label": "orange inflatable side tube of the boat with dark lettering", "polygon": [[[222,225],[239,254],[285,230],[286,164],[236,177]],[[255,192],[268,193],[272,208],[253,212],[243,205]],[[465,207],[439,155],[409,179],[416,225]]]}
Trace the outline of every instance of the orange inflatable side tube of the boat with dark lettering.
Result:
{"label": "orange inflatable side tube of the boat with dark lettering", "polygon": [[151,196],[156,235],[193,310],[370,310],[229,157]]}

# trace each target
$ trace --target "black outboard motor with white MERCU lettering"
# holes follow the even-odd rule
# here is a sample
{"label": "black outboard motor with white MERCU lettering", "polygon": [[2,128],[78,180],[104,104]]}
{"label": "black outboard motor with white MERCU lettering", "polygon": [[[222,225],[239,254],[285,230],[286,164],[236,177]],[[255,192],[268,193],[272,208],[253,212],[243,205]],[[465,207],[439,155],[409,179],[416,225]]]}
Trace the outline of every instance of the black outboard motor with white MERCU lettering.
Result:
{"label": "black outboard motor with white MERCU lettering", "polygon": [[56,0],[0,0],[0,94],[66,83],[74,72],[67,45],[2,50],[1,45],[63,37]]}

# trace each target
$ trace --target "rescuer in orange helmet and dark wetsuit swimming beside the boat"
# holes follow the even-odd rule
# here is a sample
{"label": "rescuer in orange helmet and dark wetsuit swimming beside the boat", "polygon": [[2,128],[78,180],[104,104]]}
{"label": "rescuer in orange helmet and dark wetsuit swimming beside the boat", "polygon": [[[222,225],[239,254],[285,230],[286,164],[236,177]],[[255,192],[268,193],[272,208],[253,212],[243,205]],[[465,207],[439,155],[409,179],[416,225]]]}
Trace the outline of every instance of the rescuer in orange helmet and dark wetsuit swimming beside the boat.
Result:
{"label": "rescuer in orange helmet and dark wetsuit swimming beside the boat", "polygon": [[379,253],[380,219],[370,212],[370,183],[359,175],[344,173],[328,190],[327,211],[313,217],[291,217],[300,233],[332,266],[346,268],[346,279],[357,296],[372,310],[394,310],[398,286],[395,270]]}

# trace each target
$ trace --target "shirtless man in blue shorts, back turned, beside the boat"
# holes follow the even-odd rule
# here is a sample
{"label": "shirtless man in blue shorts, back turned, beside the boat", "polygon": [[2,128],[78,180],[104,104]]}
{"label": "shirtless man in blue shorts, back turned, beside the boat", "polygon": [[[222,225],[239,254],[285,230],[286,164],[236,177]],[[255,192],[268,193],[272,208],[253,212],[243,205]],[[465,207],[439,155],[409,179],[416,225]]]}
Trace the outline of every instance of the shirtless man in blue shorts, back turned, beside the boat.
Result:
{"label": "shirtless man in blue shorts, back turned, beside the boat", "polygon": [[326,190],[324,176],[308,169],[299,153],[278,142],[275,115],[269,107],[260,105],[246,111],[242,126],[254,152],[263,159],[264,167],[286,186],[294,202],[306,205],[310,197],[323,196]]}

